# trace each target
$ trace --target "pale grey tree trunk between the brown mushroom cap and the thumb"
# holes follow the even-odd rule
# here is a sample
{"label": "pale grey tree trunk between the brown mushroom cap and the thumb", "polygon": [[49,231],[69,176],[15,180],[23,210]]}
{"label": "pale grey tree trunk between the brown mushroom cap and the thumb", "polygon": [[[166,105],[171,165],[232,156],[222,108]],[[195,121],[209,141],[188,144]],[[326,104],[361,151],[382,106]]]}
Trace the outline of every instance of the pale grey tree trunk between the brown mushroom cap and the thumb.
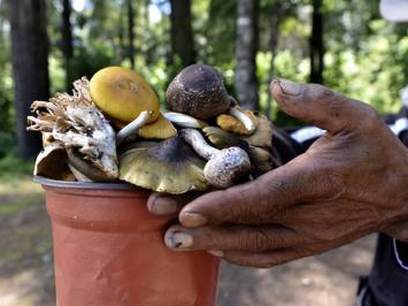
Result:
{"label": "pale grey tree trunk between the brown mushroom cap and the thumb", "polygon": [[244,109],[259,110],[258,0],[238,0],[235,89]]}

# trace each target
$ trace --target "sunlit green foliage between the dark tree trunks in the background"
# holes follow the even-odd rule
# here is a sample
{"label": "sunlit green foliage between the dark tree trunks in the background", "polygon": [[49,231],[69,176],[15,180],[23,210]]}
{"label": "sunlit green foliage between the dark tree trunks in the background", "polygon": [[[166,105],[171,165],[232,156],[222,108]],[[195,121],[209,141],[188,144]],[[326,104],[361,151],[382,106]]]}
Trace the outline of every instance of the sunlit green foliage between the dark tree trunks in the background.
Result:
{"label": "sunlit green foliage between the dark tree trunks in the background", "polygon": [[[235,0],[192,1],[197,60],[217,67],[228,92],[234,94],[236,9]],[[13,80],[9,27],[5,2],[0,2],[0,171],[19,165],[10,156],[15,143]],[[306,82],[309,77],[311,0],[261,0],[257,55],[261,109],[268,109],[269,83],[274,77]],[[408,24],[391,24],[379,15],[379,0],[323,0],[325,85],[366,101],[379,112],[395,112],[399,91],[408,84]],[[156,90],[166,107],[165,92],[180,71],[180,59],[170,47],[169,1],[135,0],[135,70]],[[68,75],[61,47],[61,2],[47,1],[50,40],[50,91],[66,90],[69,82],[90,78],[108,65],[130,67],[129,29],[125,0],[86,0],[81,12],[72,10],[74,54]],[[279,18],[278,33],[273,19]],[[271,53],[271,35],[278,45]],[[273,66],[271,66],[273,56]],[[70,88],[68,88],[70,90]],[[271,117],[279,125],[301,124],[273,104]],[[17,167],[20,168],[20,167]]]}

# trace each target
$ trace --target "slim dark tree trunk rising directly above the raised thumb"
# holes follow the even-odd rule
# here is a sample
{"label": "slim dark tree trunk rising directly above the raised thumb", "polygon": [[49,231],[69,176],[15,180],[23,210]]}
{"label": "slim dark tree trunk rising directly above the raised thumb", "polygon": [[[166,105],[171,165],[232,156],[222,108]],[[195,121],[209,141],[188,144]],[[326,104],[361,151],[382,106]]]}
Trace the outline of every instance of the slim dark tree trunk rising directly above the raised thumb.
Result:
{"label": "slim dark tree trunk rising directly above the raised thumb", "polygon": [[322,0],[313,0],[312,35],[310,37],[310,82],[323,84],[323,15]]}

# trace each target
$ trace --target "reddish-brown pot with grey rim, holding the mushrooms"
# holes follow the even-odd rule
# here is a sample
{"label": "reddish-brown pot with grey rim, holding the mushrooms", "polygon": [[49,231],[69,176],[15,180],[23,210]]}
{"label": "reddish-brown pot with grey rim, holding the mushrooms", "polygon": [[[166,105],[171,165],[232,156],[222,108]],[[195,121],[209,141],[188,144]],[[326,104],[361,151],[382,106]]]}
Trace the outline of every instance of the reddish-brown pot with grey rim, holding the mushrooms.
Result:
{"label": "reddish-brown pot with grey rim, holding the mushrooms", "polygon": [[149,191],[36,177],[52,221],[58,306],[213,306],[218,259],[174,252]]}

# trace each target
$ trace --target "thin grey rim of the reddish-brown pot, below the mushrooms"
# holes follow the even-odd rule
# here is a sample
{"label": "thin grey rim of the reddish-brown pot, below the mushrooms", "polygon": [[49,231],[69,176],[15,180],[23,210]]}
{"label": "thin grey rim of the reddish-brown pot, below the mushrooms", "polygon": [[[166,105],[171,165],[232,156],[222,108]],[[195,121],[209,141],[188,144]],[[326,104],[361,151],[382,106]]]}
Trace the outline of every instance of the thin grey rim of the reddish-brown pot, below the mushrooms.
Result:
{"label": "thin grey rim of the reddish-brown pot, below the mushrooms", "polygon": [[140,187],[128,183],[85,183],[68,182],[47,179],[44,176],[33,175],[33,181],[45,187],[66,188],[66,189],[103,189],[103,190],[141,190]]}

